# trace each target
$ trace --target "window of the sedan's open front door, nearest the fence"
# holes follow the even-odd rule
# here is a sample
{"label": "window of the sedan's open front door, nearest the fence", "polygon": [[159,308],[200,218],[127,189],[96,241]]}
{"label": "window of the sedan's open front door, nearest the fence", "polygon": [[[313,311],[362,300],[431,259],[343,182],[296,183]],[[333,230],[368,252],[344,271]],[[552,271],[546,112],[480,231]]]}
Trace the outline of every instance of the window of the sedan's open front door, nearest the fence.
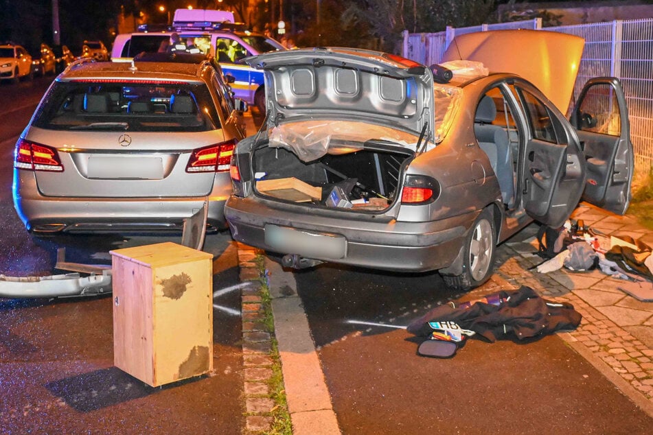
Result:
{"label": "window of the sedan's open front door, nearest the fence", "polygon": [[591,86],[585,94],[577,112],[579,130],[610,134],[621,134],[621,115],[615,89],[606,83]]}

